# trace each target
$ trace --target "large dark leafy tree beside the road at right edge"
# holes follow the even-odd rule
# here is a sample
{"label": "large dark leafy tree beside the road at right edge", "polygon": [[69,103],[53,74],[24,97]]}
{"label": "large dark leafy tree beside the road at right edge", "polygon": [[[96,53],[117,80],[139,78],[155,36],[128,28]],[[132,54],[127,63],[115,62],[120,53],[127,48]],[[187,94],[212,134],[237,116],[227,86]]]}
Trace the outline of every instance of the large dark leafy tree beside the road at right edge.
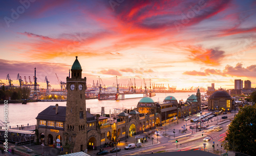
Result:
{"label": "large dark leafy tree beside the road at right edge", "polygon": [[249,155],[256,153],[256,105],[245,106],[230,123],[227,138],[229,150]]}

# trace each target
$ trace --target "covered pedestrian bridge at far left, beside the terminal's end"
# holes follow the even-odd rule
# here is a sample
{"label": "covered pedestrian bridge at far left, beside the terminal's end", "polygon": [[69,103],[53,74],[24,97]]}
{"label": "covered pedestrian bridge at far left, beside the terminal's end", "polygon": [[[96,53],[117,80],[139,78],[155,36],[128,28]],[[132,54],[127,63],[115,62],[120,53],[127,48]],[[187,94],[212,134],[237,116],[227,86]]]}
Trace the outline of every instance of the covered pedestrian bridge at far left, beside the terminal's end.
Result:
{"label": "covered pedestrian bridge at far left, beside the terminal's end", "polygon": [[[5,134],[8,132],[8,138],[5,138]],[[0,129],[0,140],[5,142],[5,139],[8,139],[8,142],[20,144],[27,144],[30,141],[33,141],[35,138],[35,132],[33,131],[24,131],[17,129]]]}

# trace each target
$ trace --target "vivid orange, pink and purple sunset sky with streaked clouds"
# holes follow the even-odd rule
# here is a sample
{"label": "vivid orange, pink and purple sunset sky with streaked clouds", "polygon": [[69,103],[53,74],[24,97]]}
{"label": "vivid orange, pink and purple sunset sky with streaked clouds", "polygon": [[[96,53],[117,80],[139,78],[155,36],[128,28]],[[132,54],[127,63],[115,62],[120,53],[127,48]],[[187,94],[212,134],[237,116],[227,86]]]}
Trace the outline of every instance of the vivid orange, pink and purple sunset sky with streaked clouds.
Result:
{"label": "vivid orange, pink and purple sunset sky with streaked clouds", "polygon": [[[22,3],[23,2],[23,3]],[[256,87],[256,1],[1,1],[0,79],[55,73],[66,81],[75,56],[88,83],[152,83],[177,89],[234,80]],[[44,83],[44,84],[43,84]],[[142,87],[144,87],[142,82]]]}

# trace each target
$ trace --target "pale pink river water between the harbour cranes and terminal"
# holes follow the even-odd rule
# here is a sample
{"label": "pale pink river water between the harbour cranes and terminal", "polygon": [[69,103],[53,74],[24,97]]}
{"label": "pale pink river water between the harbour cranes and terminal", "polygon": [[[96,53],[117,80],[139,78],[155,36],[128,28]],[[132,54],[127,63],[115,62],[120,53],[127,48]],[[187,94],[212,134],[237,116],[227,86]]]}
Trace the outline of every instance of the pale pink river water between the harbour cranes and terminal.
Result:
{"label": "pale pink river water between the harbour cranes and terminal", "polygon": [[[166,96],[174,96],[178,102],[183,99],[186,101],[188,95],[196,94],[196,92],[185,93],[156,93],[156,96],[152,97],[155,102],[162,102]],[[204,93],[201,93],[204,95]],[[117,109],[131,109],[137,107],[137,104],[141,98],[125,99],[125,100],[98,100],[89,99],[86,100],[86,108],[91,109],[92,114],[100,114],[101,107],[105,108],[105,114],[114,113],[114,108]],[[36,117],[38,113],[43,111],[49,106],[55,106],[58,103],[59,106],[66,106],[65,102],[28,102],[27,105],[22,103],[8,103],[8,121],[11,127],[16,125],[34,125],[36,124]],[[4,104],[0,104],[0,120],[4,121]]]}

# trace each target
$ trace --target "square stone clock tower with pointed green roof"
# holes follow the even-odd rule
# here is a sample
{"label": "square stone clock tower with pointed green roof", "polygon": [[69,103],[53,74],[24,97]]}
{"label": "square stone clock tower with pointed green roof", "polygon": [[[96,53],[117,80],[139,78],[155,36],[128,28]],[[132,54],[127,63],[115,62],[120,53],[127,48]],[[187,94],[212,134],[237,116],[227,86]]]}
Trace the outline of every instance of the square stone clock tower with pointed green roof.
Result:
{"label": "square stone clock tower with pointed green roof", "polygon": [[63,147],[69,153],[87,149],[86,77],[76,60],[67,77],[67,107]]}

